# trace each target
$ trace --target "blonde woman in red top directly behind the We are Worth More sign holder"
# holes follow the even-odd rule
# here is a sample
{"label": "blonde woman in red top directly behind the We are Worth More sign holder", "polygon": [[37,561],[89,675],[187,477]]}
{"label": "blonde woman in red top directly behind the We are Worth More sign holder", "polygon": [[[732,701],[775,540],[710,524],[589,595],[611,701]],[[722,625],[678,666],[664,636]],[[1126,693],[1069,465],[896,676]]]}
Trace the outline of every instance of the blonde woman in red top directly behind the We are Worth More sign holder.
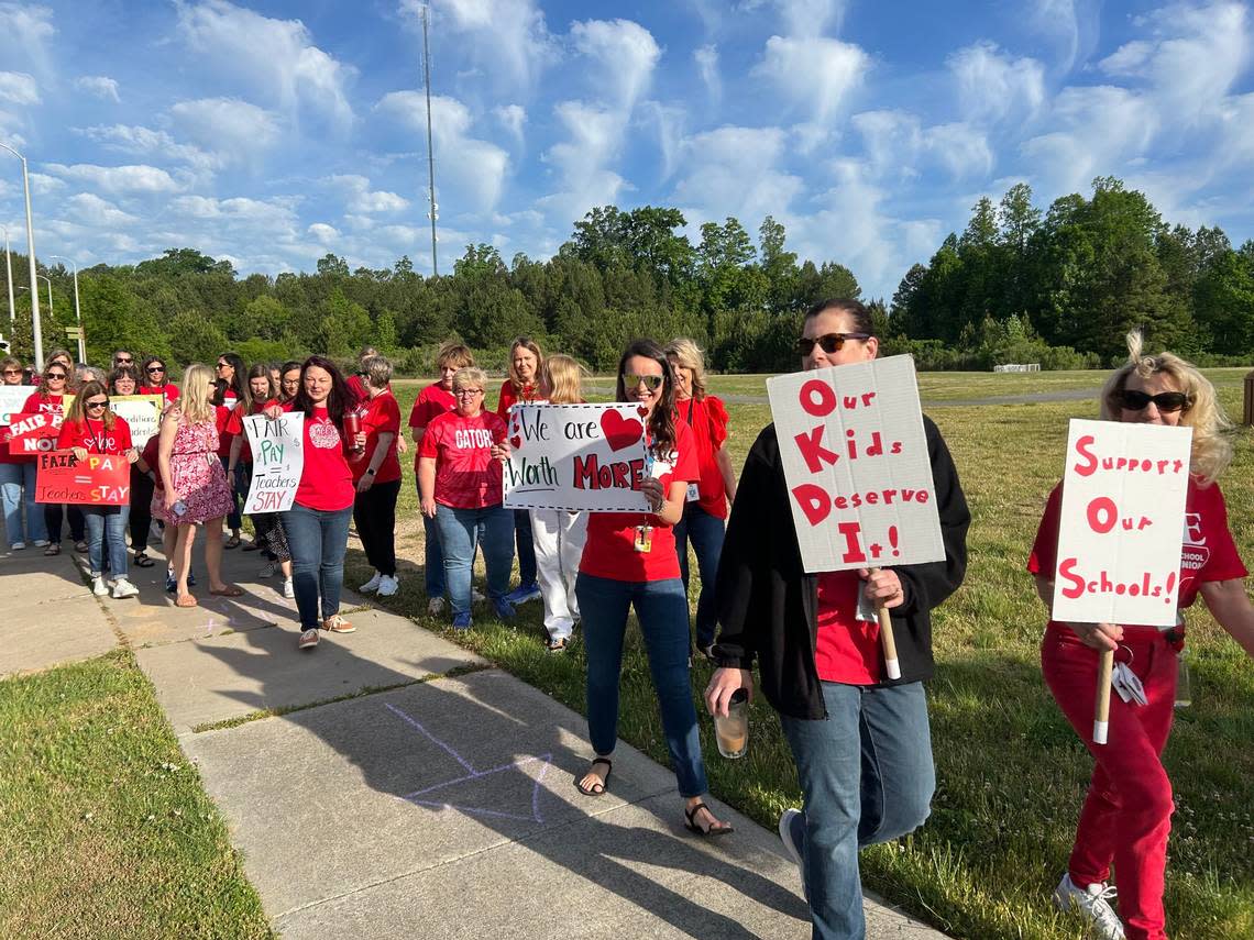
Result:
{"label": "blonde woman in red top directly behind the We are Worth More sign holder", "polygon": [[[678,420],[692,431],[701,479],[688,485],[683,518],[675,525],[675,550],[680,555],[683,590],[688,590],[688,543],[701,573],[697,600],[697,649],[710,655],[714,645],[714,582],[726,534],[727,504],[736,499],[736,471],[727,452],[727,409],[715,395],[706,395],[705,360],[700,347],[686,337],[666,345],[666,358],[675,370],[675,406]],[[690,594],[691,597],[691,594]]]}

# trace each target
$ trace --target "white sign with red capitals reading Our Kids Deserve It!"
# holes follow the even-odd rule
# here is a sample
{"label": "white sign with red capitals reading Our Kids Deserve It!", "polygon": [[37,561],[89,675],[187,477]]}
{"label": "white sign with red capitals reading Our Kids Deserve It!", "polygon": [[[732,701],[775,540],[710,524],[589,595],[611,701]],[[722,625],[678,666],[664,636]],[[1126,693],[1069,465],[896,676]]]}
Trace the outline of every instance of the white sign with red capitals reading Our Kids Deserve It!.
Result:
{"label": "white sign with red capitals reading Our Kids Deserve It!", "polygon": [[944,559],[914,360],[766,382],[806,572]]}

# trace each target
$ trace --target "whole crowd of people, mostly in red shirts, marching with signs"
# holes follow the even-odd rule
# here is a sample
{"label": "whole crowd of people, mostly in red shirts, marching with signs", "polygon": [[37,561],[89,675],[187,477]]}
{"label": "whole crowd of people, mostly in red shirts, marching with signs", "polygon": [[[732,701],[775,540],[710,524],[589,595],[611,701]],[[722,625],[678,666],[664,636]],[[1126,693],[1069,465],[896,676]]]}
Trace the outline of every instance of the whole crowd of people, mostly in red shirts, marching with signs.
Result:
{"label": "whole crowd of people, mostly in red shirts, marching with signs", "polygon": [[[1180,609],[1200,594],[1216,620],[1254,655],[1254,607],[1233,541],[1218,476],[1231,456],[1228,422],[1210,382],[1188,362],[1142,355],[1130,337],[1129,363],[1101,395],[1106,420],[1193,429],[1186,541],[1208,551],[1184,553]],[[800,368],[874,360],[879,342],[870,313],[856,301],[815,305],[796,343]],[[204,545],[211,594],[236,597],[222,578],[224,549],[257,550],[262,577],[281,573],[295,598],[298,647],[312,649],[322,632],[352,633],[340,613],[350,524],[374,569],[360,585],[390,597],[400,589],[396,504],[400,457],[409,450],[391,391],[393,366],[374,348],[361,351],[345,377],[324,356],[302,362],[256,363],[224,353],[213,367],[192,363],[174,385],[167,363],[149,356],[137,366],[128,351],[104,375],[58,350],[49,357],[25,411],[64,415],[58,446],[79,457],[112,454],[132,465],[129,506],[34,503],[29,459],[0,455],[6,535],[60,551],[64,526],[88,555],[97,594],[134,597],[130,564],[149,567],[153,523],[162,529],[167,590],[178,607],[197,604],[192,549]],[[683,801],[686,827],[726,836],[731,827],[703,801],[707,791],[691,687],[693,655],[714,664],[703,697],[726,716],[734,696],[757,683],[780,716],[791,748],[801,808],[780,817],[780,837],[796,861],[815,937],[860,937],[865,925],[858,852],[920,826],[935,788],[923,682],[933,674],[930,612],[963,582],[971,513],[958,471],[937,426],[923,419],[944,559],[851,572],[806,572],[791,520],[780,442],[774,425],[752,444],[737,479],[727,451],[730,417],[710,395],[701,350],[691,340],[637,340],[623,350],[614,397],[638,407],[646,431],[647,471],[640,481],[648,509],[638,513],[512,510],[504,505],[503,461],[509,459],[509,411],[518,404],[579,404],[586,371],[573,358],[545,355],[530,338],[509,352],[497,406],[487,401],[487,373],[464,345],[445,343],[434,381],[408,419],[414,478],[425,533],[426,609],[448,615],[456,630],[474,625],[477,604],[503,620],[542,600],[545,644],[566,650],[582,630],[587,659],[588,732],[593,753],[576,787],[587,797],[611,787],[618,739],[618,691],[628,614],[645,642],[658,711]],[[30,380],[6,358],[4,381]],[[159,432],[138,447],[110,396],[159,395]],[[66,396],[73,395],[65,407]],[[252,455],[246,417],[303,415],[303,470],[295,503],[283,513],[251,516],[245,540],[240,499]],[[1052,598],[1061,484],[1050,496],[1028,560],[1047,607]],[[130,551],[127,539],[129,534]],[[690,620],[688,549],[702,590]],[[477,555],[485,569],[480,595]],[[517,559],[519,580],[510,588]],[[1198,559],[1203,559],[1199,561]],[[893,627],[900,677],[889,678],[879,618]],[[1046,683],[1066,719],[1095,758],[1075,849],[1055,892],[1076,906],[1106,940],[1166,937],[1162,909],[1171,787],[1161,762],[1171,726],[1184,614],[1171,629],[1135,624],[1051,620],[1042,642]],[[1147,704],[1111,703],[1110,743],[1095,746],[1091,716],[1100,652],[1126,653]],[[1111,905],[1114,866],[1120,912]]]}

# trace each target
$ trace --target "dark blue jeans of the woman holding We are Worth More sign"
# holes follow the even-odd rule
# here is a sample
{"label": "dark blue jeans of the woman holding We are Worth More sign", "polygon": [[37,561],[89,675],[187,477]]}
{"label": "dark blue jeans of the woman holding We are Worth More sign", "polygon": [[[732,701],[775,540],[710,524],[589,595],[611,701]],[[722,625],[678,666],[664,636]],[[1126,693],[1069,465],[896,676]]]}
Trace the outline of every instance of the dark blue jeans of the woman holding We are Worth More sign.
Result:
{"label": "dark blue jeans of the woman holding We are Worth More sign", "polygon": [[574,594],[588,657],[588,736],[593,749],[598,755],[613,753],[618,739],[623,633],[627,610],[635,605],[680,795],[701,796],[709,787],[688,679],[688,600],[683,582],[617,582],[581,572]]}

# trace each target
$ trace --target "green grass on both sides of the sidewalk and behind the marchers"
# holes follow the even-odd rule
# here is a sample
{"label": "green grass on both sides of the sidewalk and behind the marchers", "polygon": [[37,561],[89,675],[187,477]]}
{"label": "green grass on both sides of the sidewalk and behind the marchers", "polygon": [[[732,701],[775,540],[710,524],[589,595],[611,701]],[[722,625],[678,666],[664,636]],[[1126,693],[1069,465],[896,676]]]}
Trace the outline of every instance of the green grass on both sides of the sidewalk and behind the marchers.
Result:
{"label": "green grass on both sides of the sidewalk and behind the marchers", "polygon": [[[1240,415],[1244,370],[1214,370]],[[1096,389],[1104,373],[923,375],[925,401]],[[716,376],[711,389],[761,396],[765,376]],[[424,382],[396,382],[408,414]],[[609,386],[607,379],[593,384]],[[596,396],[593,396],[596,397]],[[494,395],[489,396],[494,400]],[[734,462],[769,420],[732,404]],[[1092,400],[948,406],[930,412],[971,503],[967,583],[934,617],[929,683],[939,788],[913,837],[863,854],[867,884],[956,937],[1062,940],[1077,920],[1048,902],[1070,849],[1090,761],[1040,677],[1043,609],[1023,570],[1046,494],[1061,471],[1070,417]],[[1254,559],[1254,457],[1241,435],[1223,479],[1243,555]],[[577,711],[582,647],[551,655],[538,604],[515,629],[477,620],[468,635],[425,614],[421,524],[406,471],[398,524],[401,592],[384,600],[444,630]],[[346,582],[365,580],[351,543]],[[695,598],[693,598],[695,599]],[[1166,762],[1176,786],[1167,916],[1178,940],[1254,936],[1254,669],[1199,604],[1190,615],[1194,706],[1179,712]],[[698,664],[693,688],[709,667]],[[666,748],[638,633],[628,635],[621,736],[658,761]],[[712,791],[772,827],[798,803],[774,713],[755,703],[749,756],[724,761],[703,723]],[[128,653],[0,683],[0,936],[265,936],[260,902],[226,830],[178,751]],[[19,860],[15,864],[14,860]]]}

